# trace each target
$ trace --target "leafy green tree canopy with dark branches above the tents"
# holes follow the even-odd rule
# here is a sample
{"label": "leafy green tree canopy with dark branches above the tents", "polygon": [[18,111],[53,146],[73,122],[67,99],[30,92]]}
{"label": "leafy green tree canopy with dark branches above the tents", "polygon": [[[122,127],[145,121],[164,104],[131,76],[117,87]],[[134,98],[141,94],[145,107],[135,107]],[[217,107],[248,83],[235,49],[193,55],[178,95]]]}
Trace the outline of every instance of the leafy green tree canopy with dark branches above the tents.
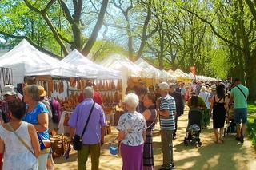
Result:
{"label": "leafy green tree canopy with dark branches above the tents", "polygon": [[[256,2],[251,0],[2,0],[0,37],[56,57],[124,53],[159,69],[240,77],[256,98]],[[255,71],[254,71],[255,70]]]}

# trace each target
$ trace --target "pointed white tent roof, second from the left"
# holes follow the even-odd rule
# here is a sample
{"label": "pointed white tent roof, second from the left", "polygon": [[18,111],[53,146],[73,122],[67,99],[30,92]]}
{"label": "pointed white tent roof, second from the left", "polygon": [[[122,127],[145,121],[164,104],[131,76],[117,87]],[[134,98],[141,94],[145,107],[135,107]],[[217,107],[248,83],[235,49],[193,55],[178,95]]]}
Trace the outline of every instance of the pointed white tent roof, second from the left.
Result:
{"label": "pointed white tent roof, second from the left", "polygon": [[[98,79],[120,79],[120,72],[113,69],[107,69],[102,65],[98,65],[74,49],[62,61],[74,65],[78,69],[77,77],[98,78]],[[81,74],[82,73],[82,74]]]}

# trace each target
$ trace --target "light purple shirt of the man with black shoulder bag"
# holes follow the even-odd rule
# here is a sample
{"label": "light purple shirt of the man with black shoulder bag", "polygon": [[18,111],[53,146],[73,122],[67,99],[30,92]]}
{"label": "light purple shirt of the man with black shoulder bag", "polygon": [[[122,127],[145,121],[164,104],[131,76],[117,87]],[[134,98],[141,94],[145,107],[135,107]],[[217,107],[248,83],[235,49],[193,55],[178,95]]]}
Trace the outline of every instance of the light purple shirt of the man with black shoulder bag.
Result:
{"label": "light purple shirt of the man with black shoulder bag", "polygon": [[[86,125],[86,120],[93,103],[93,99],[85,99],[82,103],[77,105],[70,116],[69,125],[76,129],[76,134],[79,136],[82,135],[82,130]],[[106,117],[102,106],[95,103],[86,132],[82,136],[82,144],[98,144],[101,141],[101,127],[106,125]]]}

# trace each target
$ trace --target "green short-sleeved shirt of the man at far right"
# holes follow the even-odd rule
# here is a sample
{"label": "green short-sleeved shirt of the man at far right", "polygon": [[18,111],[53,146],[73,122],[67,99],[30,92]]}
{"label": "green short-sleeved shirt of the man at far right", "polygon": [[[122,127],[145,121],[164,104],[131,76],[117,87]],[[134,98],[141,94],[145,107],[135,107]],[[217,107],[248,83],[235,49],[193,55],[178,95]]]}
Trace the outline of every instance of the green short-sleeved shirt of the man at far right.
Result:
{"label": "green short-sleeved shirt of the man at far right", "polygon": [[[246,95],[246,98],[249,95],[249,90],[246,88],[244,85],[237,85],[240,89],[242,89],[242,92]],[[239,108],[247,108],[247,101],[246,98],[243,96],[242,92],[238,87],[234,87],[231,89],[231,96],[234,97],[234,109],[239,109]]]}

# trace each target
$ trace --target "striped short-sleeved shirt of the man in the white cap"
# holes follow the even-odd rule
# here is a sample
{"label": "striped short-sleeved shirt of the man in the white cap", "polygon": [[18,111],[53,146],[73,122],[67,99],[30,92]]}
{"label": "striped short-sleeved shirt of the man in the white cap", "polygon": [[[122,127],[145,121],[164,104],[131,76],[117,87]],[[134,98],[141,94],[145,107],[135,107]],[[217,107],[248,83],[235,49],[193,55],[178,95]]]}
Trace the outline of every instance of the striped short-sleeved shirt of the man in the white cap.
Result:
{"label": "striped short-sleeved shirt of the man in the white cap", "polygon": [[166,97],[162,97],[160,103],[160,111],[168,109],[170,112],[169,117],[163,117],[160,115],[160,128],[162,130],[174,130],[175,129],[175,100],[174,97],[171,97],[169,94]]}

